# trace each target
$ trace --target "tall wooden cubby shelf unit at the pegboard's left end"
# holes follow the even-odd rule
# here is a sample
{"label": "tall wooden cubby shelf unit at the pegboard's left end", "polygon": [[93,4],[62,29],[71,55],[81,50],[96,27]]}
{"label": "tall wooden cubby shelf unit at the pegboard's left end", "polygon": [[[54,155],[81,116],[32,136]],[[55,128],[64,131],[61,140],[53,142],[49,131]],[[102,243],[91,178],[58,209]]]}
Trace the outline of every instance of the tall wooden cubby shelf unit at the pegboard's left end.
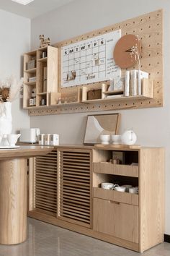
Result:
{"label": "tall wooden cubby shelf unit at the pegboard's left end", "polygon": [[[47,52],[47,57],[42,58],[42,52]],[[27,62],[35,58],[36,67],[27,69]],[[44,68],[47,68],[47,77],[44,74]],[[30,77],[36,77],[34,82],[29,82]],[[44,90],[44,80],[47,80],[47,85]],[[32,88],[36,88],[36,106],[31,106],[29,100],[32,93]],[[50,93],[58,90],[58,48],[47,46],[39,48],[36,51],[30,51],[24,54],[24,92],[23,92],[23,107],[27,109],[41,108],[42,98],[45,100],[45,106],[50,106]],[[44,107],[44,106],[43,106]]]}

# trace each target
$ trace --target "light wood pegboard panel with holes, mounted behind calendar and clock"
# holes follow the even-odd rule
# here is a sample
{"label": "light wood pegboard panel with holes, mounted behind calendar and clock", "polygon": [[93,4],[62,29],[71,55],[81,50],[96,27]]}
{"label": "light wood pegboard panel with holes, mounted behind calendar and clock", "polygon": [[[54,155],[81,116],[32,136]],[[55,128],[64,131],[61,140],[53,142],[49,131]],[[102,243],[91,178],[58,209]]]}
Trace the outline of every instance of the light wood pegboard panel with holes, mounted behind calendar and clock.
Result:
{"label": "light wood pegboard panel with holes, mounted behind calendar and clock", "polygon": [[[70,43],[76,43],[80,40],[92,38],[97,35],[109,33],[112,30],[122,30],[122,35],[134,34],[138,35],[142,44],[142,52],[140,56],[141,70],[149,73],[150,78],[154,80],[154,98],[150,100],[132,99],[128,100],[124,98],[124,101],[108,101],[108,103],[79,103],[76,105],[68,104],[63,106],[46,107],[46,108],[32,108],[29,110],[30,116],[39,116],[47,114],[64,114],[64,113],[77,113],[77,112],[89,112],[89,111],[104,111],[104,110],[117,110],[125,108],[150,108],[163,106],[163,11],[160,9],[156,12],[144,14],[140,17],[135,17],[125,22],[120,22],[115,25],[104,27],[101,30],[96,30],[91,33],[80,35],[70,40],[64,40],[60,43],[56,43],[54,46],[59,49],[59,70],[58,70],[58,84],[60,85],[60,59],[61,59],[61,47]],[[133,67],[138,69],[137,66]],[[122,69],[122,74],[125,73],[125,69]],[[108,81],[106,81],[108,82]],[[102,82],[101,82],[102,83]],[[80,88],[82,86],[79,86]],[[88,88],[94,89],[99,87],[99,83],[89,84]],[[66,93],[75,90],[73,88],[59,88],[59,92]]]}

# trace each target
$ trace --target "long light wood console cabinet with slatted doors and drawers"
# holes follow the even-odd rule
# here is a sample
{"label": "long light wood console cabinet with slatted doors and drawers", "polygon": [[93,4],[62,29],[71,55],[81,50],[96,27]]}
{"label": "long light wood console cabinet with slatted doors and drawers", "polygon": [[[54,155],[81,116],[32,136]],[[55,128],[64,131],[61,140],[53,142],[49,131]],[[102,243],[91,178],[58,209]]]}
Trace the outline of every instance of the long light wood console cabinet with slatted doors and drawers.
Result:
{"label": "long light wood console cabinet with slatted doors and drawers", "polygon": [[[115,152],[122,164],[108,163]],[[138,195],[102,182],[138,186]],[[138,252],[164,241],[163,148],[58,146],[30,161],[28,195],[32,218]]]}

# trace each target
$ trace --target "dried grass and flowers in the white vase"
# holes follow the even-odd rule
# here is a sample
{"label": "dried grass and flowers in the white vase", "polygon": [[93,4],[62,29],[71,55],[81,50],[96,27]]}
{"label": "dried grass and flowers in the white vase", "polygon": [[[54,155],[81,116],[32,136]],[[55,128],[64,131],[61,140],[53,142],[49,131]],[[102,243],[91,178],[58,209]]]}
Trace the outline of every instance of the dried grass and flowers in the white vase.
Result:
{"label": "dried grass and flowers in the white vase", "polygon": [[17,81],[17,78],[10,76],[6,80],[0,80],[0,103],[2,102],[12,102],[16,100],[19,91],[23,85],[23,78]]}

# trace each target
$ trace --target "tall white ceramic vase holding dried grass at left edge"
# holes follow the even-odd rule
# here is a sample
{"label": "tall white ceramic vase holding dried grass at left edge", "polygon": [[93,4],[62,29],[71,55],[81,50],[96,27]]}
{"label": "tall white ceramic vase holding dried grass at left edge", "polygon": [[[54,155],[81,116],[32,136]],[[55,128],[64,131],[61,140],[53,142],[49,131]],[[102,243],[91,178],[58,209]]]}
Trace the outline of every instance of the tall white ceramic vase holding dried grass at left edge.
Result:
{"label": "tall white ceramic vase holding dried grass at left edge", "polygon": [[[0,103],[0,137],[9,135],[12,132],[12,103]],[[8,144],[6,137],[2,140],[3,145]],[[0,142],[1,144],[1,142]]]}

